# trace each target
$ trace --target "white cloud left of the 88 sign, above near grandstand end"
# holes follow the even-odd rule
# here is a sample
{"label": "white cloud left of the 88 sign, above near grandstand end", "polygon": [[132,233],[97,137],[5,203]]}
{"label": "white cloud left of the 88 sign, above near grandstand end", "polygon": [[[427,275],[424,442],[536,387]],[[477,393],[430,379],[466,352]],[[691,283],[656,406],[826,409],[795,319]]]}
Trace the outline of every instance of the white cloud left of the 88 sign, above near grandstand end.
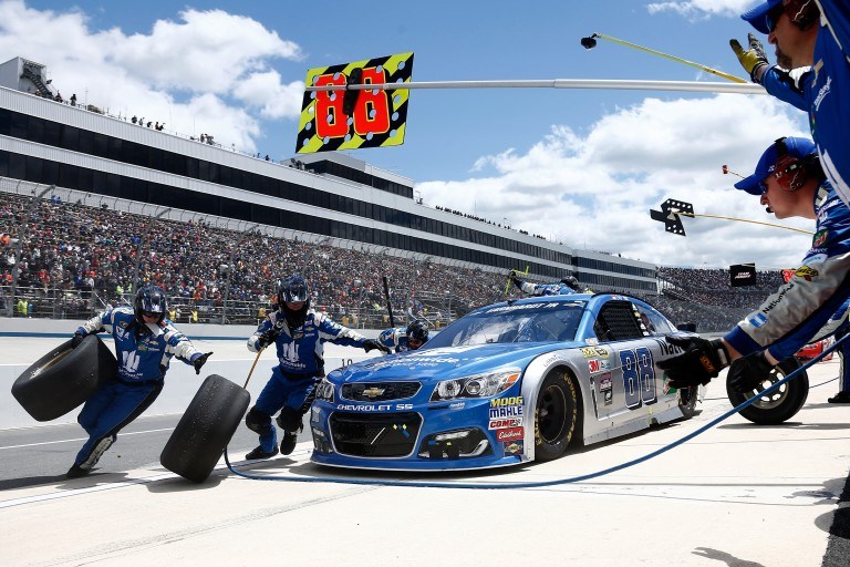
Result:
{"label": "white cloud left of the 88 sign, above near grandstand end", "polygon": [[[38,32],[33,32],[38,30]],[[56,41],[56,38],[62,38]],[[110,114],[165,122],[180,135],[211,134],[256,152],[260,118],[296,118],[303,82],[283,83],[271,68],[300,61],[298,44],[242,16],[186,9],[149,33],[93,31],[76,10],[35,10],[0,1],[0,52],[48,65],[63,96]],[[274,156],[279,158],[280,156]]]}

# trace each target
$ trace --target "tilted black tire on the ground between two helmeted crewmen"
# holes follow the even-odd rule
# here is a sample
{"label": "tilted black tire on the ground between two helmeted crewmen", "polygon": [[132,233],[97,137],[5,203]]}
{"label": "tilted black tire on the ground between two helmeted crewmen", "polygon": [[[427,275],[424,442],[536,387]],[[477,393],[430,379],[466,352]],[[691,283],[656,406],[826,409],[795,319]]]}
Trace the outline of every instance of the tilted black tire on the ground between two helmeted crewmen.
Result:
{"label": "tilted black tire on the ground between two helmeted crewmen", "polygon": [[189,481],[206,481],[250,402],[248,390],[218,374],[208,375],[165,444],[159,463]]}

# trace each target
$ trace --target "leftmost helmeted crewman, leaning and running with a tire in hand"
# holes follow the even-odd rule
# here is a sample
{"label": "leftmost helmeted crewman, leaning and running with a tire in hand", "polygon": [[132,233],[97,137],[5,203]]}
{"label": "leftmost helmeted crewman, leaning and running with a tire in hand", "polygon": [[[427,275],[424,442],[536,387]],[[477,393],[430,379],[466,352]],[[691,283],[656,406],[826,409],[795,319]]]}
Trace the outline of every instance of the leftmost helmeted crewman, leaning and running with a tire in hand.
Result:
{"label": "leftmost helmeted crewman, leaning and running with a tire in hand", "polygon": [[133,307],[118,307],[93,317],[74,333],[76,347],[86,334],[106,331],[115,340],[118,372],[83,405],[76,421],[89,434],[65,476],[76,478],[92,471],[103,453],[115,443],[117,433],[138,417],[163,391],[165,373],[173,357],[200,368],[211,352],[203,354],[169,320],[165,319],[165,292],[143,286]]}

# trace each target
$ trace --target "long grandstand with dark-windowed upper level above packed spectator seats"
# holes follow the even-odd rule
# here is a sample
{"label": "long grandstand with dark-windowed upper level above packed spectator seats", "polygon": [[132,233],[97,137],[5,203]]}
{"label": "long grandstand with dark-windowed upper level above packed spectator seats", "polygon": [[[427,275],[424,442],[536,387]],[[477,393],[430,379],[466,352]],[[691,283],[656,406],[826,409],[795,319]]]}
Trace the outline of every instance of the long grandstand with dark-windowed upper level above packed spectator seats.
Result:
{"label": "long grandstand with dark-windowed upper level above packed spectator seats", "polygon": [[[766,295],[688,287],[649,262],[429,207],[411,179],[346,155],[274,163],[212,136],[141,127],[54,100],[44,73],[21,58],[0,65],[7,315],[23,299],[28,317],[87,317],[154,281],[182,321],[253,322],[290,272],[309,278],[319,309],[353,327],[388,322],[382,276],[397,324],[417,316],[442,326],[501,299],[511,268],[542,282],[572,274],[682,318],[693,300],[740,312]],[[701,329],[718,324],[707,315]]]}

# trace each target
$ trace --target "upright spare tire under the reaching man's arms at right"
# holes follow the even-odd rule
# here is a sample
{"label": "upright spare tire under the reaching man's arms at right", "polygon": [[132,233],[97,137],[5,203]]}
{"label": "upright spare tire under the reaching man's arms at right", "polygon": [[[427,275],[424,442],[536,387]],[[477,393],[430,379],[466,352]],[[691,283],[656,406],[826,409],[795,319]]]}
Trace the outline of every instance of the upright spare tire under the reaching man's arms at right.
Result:
{"label": "upright spare tire under the reaching man's arms at right", "polygon": [[[786,359],[774,367],[774,370],[770,371],[770,374],[765,383],[769,381],[770,384],[775,384],[798,368],[800,368],[800,362],[796,358],[791,357]],[[728,381],[726,382],[726,394],[729,396],[729,402],[732,402],[732,405],[736,406],[744,403],[749,398],[757,395],[764,390],[765,388],[759,386],[759,390],[753,390],[751,392],[742,394],[734,391],[729,386]],[[809,375],[804,370],[795,378],[786,382],[776,392],[769,395],[763,395],[758,401],[747,405],[744,410],[740,411],[740,415],[742,417],[745,417],[753,423],[758,423],[759,425],[777,425],[794,417],[804,406],[808,396]]]}

